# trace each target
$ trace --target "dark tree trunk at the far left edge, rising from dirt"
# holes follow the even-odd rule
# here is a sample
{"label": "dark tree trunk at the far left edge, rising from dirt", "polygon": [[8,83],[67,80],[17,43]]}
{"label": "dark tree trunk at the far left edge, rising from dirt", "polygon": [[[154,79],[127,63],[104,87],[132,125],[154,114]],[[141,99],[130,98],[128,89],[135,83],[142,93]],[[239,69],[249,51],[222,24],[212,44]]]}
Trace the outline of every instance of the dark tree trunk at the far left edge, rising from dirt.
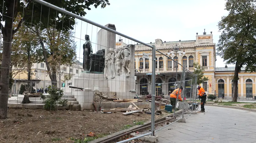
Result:
{"label": "dark tree trunk at the far left edge, rising from dirt", "polygon": [[0,119],[7,118],[8,94],[9,94],[9,69],[11,62],[12,28],[6,28],[3,32],[2,67],[0,79]]}

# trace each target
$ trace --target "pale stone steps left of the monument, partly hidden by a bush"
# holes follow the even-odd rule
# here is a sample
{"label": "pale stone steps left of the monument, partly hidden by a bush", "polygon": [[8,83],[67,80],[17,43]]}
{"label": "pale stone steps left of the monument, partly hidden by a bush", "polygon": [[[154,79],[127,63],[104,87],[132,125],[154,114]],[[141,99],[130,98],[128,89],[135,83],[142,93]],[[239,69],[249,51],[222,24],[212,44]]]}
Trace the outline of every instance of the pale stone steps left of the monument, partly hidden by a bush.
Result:
{"label": "pale stone steps left of the monument, partly hidden by a bush", "polygon": [[[16,108],[39,108],[42,109],[44,106],[43,99],[40,99],[40,97],[30,97],[30,104],[21,104],[23,101],[24,95],[18,95],[18,96],[12,96],[8,99],[8,107],[16,107]],[[68,106],[62,107],[62,105],[59,105],[59,101],[56,102],[55,109],[76,109],[80,110],[80,105],[78,101],[76,101],[76,98],[74,95],[63,95],[61,98],[61,101],[67,99]]]}

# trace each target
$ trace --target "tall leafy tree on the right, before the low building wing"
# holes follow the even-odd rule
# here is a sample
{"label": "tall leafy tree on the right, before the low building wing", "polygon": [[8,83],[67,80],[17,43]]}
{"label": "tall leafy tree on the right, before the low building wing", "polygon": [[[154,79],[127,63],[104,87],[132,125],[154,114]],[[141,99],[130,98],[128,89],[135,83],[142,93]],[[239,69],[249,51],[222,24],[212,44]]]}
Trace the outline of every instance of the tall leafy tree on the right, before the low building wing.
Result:
{"label": "tall leafy tree on the right, before the low building wing", "polygon": [[226,0],[223,16],[218,23],[221,35],[217,44],[217,55],[226,64],[235,64],[233,76],[233,99],[237,101],[238,73],[245,65],[245,71],[256,71],[256,4],[255,0]]}

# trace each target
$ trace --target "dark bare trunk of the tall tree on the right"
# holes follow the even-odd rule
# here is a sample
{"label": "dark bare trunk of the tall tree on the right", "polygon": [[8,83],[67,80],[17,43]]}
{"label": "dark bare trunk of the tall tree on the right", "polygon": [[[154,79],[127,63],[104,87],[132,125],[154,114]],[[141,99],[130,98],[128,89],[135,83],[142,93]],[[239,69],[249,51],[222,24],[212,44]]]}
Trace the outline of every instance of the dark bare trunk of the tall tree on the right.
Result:
{"label": "dark bare trunk of the tall tree on the right", "polygon": [[235,67],[235,73],[234,73],[234,78],[233,78],[233,98],[232,101],[236,102],[237,101],[237,83],[238,83],[238,73],[241,69],[241,67],[243,66],[243,64],[239,64],[238,62],[236,62],[236,67]]}

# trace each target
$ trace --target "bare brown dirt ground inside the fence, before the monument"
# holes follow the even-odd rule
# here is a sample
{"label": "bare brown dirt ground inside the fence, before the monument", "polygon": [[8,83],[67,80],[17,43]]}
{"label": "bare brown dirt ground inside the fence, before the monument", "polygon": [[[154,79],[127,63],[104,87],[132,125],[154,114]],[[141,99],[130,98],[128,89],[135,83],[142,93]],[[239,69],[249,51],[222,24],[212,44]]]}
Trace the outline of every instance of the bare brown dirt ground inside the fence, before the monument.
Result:
{"label": "bare brown dirt ground inside the fence, before the monument", "polygon": [[[47,143],[83,139],[90,132],[108,135],[120,131],[134,121],[148,118],[100,111],[45,111],[42,109],[9,108],[8,119],[0,121],[0,142]],[[72,141],[70,141],[72,142]]]}

